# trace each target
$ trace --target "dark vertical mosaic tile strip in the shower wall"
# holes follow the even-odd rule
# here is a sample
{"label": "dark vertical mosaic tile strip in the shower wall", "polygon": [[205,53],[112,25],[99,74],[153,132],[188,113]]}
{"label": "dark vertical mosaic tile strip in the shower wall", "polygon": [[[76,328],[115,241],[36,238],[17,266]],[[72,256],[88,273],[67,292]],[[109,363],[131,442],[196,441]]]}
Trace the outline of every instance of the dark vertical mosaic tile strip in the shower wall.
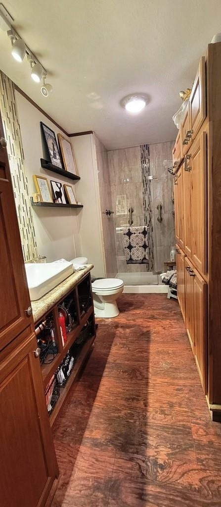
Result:
{"label": "dark vertical mosaic tile strip in the shower wall", "polygon": [[142,170],[142,192],[144,205],[144,224],[149,227],[149,265],[148,271],[154,271],[154,244],[153,244],[153,217],[152,217],[152,198],[151,198],[151,180],[148,176],[150,172],[150,152],[148,144],[141,144],[141,170]]}

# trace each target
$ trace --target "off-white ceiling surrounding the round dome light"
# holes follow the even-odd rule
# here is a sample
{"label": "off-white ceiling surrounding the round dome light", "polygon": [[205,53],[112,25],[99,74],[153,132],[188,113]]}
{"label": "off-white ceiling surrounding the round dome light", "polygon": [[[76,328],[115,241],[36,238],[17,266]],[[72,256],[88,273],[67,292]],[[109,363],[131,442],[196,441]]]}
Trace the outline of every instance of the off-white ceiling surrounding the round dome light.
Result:
{"label": "off-white ceiling surrounding the round dome light", "polygon": [[[192,85],[199,58],[221,31],[220,0],[8,0],[25,43],[49,71],[45,98],[26,61],[11,56],[0,30],[0,68],[67,132],[94,130],[106,148],[173,140],[179,91]],[[150,97],[141,114],[125,95]]]}

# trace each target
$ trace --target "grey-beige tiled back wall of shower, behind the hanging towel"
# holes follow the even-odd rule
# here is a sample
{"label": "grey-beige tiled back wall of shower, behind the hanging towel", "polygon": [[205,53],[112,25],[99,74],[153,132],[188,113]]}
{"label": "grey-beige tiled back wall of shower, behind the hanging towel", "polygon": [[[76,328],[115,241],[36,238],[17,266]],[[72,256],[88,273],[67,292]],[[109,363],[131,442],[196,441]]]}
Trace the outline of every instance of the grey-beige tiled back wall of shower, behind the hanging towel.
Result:
{"label": "grey-beige tiled back wall of shower, behind the hanging towel", "polygon": [[[173,178],[167,167],[171,166],[173,144],[173,141],[144,144],[108,152],[118,273],[162,272],[163,262],[169,259],[170,247],[174,244],[174,218]],[[161,223],[157,221],[159,203],[162,205]],[[121,228],[128,225],[130,206],[134,208],[134,226],[150,224],[149,266],[126,264],[125,261]]]}

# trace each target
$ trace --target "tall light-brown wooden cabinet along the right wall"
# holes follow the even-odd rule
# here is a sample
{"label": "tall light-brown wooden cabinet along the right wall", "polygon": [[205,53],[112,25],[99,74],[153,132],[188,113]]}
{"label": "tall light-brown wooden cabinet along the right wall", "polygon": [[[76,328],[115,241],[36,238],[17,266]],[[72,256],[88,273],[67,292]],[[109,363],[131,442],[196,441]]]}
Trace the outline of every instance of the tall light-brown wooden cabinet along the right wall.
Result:
{"label": "tall light-brown wooden cabinet along the right wall", "polygon": [[180,162],[174,165],[178,300],[213,420],[221,420],[220,72],[221,43],[209,44],[180,129]]}

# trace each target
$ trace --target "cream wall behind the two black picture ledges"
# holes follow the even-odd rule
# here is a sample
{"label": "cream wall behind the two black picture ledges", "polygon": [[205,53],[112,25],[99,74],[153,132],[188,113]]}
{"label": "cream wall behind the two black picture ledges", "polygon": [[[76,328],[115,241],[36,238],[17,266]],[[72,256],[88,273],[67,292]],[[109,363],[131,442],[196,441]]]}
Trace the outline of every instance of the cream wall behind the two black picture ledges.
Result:
{"label": "cream wall behind the two black picture ledges", "polygon": [[[59,174],[45,171],[40,167],[40,158],[44,158],[40,121],[54,130],[56,136],[59,129],[17,91],[16,101],[30,195],[36,192],[32,177],[33,174],[47,176],[49,182],[51,179],[54,179],[63,184],[69,183],[72,185],[72,180],[67,180]],[[79,185],[79,183],[73,185],[75,194],[77,194],[77,185]],[[84,201],[83,197],[82,201]],[[82,213],[80,209],[33,207],[32,210],[37,249],[40,255],[46,255],[48,262],[55,261],[62,257],[71,260],[74,257],[81,256],[78,224],[80,213]],[[93,259],[90,259],[90,261],[91,260],[93,262]]]}

